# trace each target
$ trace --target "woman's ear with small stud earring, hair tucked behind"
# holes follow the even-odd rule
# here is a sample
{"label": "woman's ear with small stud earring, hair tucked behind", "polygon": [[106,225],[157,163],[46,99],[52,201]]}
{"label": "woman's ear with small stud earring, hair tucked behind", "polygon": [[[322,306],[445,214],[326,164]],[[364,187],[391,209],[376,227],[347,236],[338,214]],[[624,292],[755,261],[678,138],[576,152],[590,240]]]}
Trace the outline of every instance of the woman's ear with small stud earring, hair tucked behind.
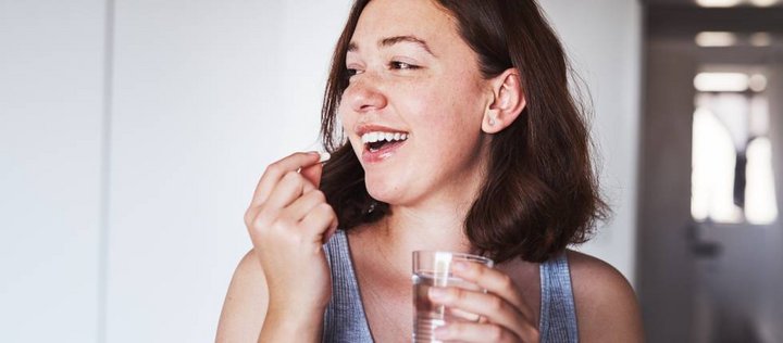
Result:
{"label": "woman's ear with small stud earring, hair tucked behind", "polygon": [[506,69],[494,77],[489,84],[493,100],[484,111],[482,130],[487,134],[497,134],[517,119],[527,101],[517,68]]}

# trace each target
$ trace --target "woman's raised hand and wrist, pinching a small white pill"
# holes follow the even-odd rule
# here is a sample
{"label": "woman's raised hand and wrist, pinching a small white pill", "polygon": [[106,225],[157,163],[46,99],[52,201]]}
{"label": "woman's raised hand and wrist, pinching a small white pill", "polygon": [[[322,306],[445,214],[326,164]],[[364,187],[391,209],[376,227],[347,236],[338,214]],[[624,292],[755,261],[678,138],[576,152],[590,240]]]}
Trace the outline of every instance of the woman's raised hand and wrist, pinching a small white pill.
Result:
{"label": "woman's raised hand and wrist, pinching a small white pill", "polygon": [[337,216],[318,189],[322,168],[318,153],[295,153],[271,164],[245,214],[268,282],[264,329],[318,328],[323,320],[332,281],[322,244],[336,230]]}

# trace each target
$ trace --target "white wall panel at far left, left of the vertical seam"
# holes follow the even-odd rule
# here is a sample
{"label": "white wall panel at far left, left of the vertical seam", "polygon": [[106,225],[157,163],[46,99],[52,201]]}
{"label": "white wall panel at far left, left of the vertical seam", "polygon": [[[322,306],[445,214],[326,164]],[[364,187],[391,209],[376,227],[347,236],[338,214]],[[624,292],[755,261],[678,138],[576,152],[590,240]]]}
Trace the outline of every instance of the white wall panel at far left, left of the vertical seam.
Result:
{"label": "white wall panel at far left, left of the vertical seam", "polygon": [[0,341],[91,342],[102,0],[0,0]]}

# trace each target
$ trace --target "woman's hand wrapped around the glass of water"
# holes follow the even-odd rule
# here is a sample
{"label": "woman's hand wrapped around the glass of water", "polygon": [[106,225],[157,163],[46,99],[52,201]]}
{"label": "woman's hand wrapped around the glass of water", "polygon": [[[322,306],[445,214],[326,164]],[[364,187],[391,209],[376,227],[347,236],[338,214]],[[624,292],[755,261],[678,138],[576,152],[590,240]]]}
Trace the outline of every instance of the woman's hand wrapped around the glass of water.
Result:
{"label": "woman's hand wrapped around the glass of water", "polygon": [[472,263],[458,263],[453,274],[487,292],[465,289],[431,288],[430,300],[452,309],[476,314],[478,321],[449,322],[435,330],[442,341],[538,342],[538,328],[531,308],[523,301],[511,277]]}

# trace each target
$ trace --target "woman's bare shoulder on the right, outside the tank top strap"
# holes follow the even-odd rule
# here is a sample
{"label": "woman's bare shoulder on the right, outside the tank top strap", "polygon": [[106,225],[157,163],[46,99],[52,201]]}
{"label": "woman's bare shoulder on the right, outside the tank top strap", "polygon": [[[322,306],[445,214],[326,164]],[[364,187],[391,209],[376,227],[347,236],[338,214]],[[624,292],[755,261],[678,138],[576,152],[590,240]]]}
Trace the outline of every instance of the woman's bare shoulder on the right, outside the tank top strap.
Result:
{"label": "woman's bare shoulder on the right, outside the tank top strap", "polygon": [[631,284],[611,265],[568,251],[581,342],[642,342],[642,316]]}

